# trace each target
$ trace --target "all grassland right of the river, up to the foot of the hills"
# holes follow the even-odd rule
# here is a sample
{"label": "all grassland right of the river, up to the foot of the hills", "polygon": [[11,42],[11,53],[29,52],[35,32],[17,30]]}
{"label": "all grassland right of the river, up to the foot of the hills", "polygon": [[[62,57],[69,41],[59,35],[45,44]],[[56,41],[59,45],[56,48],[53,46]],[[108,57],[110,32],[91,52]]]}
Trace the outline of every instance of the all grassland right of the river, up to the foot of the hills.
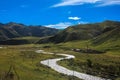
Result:
{"label": "all grassland right of the river, up to the foot of the hills", "polygon": [[[117,45],[117,46],[116,46]],[[45,44],[42,46],[50,46],[45,50],[56,53],[65,53],[75,55],[72,60],[59,61],[59,65],[69,69],[105,77],[113,80],[120,78],[120,48],[119,41],[108,41],[101,45],[93,45],[88,41],[73,41],[60,44]],[[74,52],[71,49],[85,49],[87,46],[91,49],[106,51],[102,54],[89,54]]]}

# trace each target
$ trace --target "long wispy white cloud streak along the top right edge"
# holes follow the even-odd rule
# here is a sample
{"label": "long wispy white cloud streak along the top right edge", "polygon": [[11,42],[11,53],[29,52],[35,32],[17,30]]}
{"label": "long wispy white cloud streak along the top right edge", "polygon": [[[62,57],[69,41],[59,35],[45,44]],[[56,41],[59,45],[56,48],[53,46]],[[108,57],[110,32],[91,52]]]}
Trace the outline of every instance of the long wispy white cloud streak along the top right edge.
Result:
{"label": "long wispy white cloud streak along the top right edge", "polygon": [[97,6],[120,5],[120,0],[62,0],[51,7],[75,6],[83,4],[94,4]]}

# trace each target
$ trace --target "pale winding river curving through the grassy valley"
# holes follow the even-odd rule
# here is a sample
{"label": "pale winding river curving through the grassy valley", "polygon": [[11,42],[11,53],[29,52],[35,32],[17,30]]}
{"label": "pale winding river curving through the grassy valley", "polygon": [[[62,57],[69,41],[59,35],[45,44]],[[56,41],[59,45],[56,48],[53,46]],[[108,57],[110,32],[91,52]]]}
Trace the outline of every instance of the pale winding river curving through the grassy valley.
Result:
{"label": "pale winding river curving through the grassy valley", "polygon": [[[36,52],[44,53],[44,54],[54,54],[54,53],[44,52],[43,50],[37,50]],[[64,59],[72,59],[72,58],[75,58],[75,56],[68,55],[68,54],[56,54],[56,55],[61,55],[61,56],[64,56],[65,58],[47,59],[47,60],[41,61],[40,63],[52,68],[53,70],[55,70],[59,73],[69,75],[69,76],[75,76],[75,77],[78,77],[79,79],[83,79],[83,80],[110,80],[110,79],[100,78],[97,76],[88,75],[85,73],[80,73],[80,72],[77,72],[74,70],[69,70],[65,67],[62,67],[57,64],[58,61],[64,60]]]}

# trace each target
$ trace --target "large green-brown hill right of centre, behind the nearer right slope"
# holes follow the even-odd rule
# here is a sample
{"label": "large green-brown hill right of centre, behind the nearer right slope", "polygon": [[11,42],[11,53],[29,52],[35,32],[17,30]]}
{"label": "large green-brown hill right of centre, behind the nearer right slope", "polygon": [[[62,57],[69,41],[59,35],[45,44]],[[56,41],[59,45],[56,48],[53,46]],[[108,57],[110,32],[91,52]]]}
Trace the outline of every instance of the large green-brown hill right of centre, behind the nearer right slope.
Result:
{"label": "large green-brown hill right of centre, behind the nearer right slope", "polygon": [[[119,26],[120,26],[120,22],[109,21],[109,20],[101,23],[80,24],[80,25],[70,26],[52,37],[41,39],[40,41],[38,41],[38,43],[46,43],[46,42],[60,43],[60,42],[67,42],[73,40],[88,40],[88,39],[95,39],[100,35],[102,37],[102,35],[105,34],[107,35],[110,33],[111,35],[118,35],[116,33],[117,31],[114,31],[116,34],[113,34],[112,31],[118,30],[120,28]],[[94,42],[95,41],[99,42],[97,40],[94,40]]]}

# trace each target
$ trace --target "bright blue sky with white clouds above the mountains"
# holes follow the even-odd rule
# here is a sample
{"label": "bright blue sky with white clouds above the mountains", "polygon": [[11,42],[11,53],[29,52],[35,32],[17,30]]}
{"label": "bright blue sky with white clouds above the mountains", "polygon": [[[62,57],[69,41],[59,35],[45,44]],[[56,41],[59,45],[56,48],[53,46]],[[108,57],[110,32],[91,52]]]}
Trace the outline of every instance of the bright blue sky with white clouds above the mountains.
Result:
{"label": "bright blue sky with white clouds above the mountains", "polygon": [[120,0],[0,0],[0,22],[63,29],[71,25],[120,21]]}

